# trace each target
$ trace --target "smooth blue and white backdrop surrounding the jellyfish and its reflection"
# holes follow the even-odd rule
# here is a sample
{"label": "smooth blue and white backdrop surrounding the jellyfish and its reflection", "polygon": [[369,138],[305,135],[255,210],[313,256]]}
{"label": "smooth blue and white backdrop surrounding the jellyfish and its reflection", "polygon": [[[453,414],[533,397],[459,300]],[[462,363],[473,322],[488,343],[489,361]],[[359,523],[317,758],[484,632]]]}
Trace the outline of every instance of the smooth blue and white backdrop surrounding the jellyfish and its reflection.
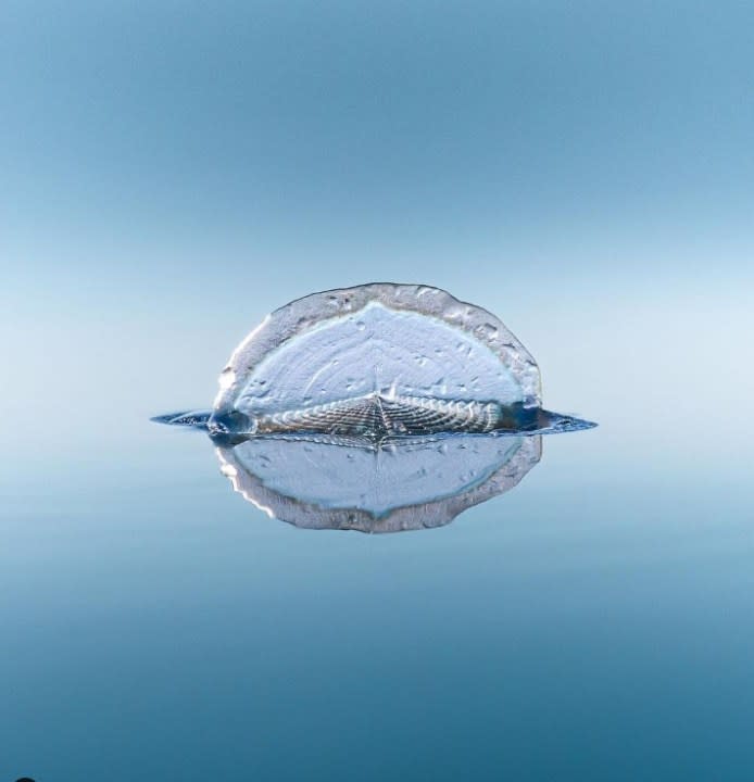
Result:
{"label": "smooth blue and white backdrop surrounding the jellyfish and its reflection", "polygon": [[[0,780],[750,780],[754,9],[3,2]],[[549,438],[305,532],[205,406],[271,308],[445,288]]]}

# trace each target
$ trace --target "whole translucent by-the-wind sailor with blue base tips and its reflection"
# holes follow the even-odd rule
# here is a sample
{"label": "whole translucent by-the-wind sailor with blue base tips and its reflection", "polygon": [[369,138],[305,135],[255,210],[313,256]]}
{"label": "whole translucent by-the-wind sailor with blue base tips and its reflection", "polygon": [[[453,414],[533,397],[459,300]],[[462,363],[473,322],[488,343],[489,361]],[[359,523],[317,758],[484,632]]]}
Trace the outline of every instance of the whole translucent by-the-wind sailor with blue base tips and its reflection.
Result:
{"label": "whole translucent by-the-wind sailor with blue base tips and its reflection", "polygon": [[594,426],[545,411],[537,363],[491,313],[429,286],[313,293],[234,351],[205,429],[234,488],[298,527],[448,524],[516,485],[541,434]]}

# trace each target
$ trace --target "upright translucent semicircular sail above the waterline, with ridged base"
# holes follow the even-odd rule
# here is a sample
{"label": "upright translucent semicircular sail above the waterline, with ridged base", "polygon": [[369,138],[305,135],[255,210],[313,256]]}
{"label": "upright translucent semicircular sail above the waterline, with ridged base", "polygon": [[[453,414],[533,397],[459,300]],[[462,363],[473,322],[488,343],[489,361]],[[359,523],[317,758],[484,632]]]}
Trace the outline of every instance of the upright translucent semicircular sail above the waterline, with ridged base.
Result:
{"label": "upright translucent semicircular sail above the waterline, with ridged base", "polygon": [[491,431],[540,403],[537,364],[497,317],[437,288],[374,283],[269,315],[224,369],[210,429]]}

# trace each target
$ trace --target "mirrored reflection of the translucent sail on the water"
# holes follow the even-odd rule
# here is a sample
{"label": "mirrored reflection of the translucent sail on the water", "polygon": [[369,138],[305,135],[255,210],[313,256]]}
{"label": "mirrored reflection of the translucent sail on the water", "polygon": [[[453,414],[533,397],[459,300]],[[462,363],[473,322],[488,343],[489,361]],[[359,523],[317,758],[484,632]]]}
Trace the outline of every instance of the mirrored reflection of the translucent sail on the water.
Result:
{"label": "mirrored reflection of the translucent sail on the water", "polygon": [[271,517],[361,532],[449,524],[513,489],[541,453],[541,436],[478,434],[375,446],[257,437],[217,449],[234,489]]}

